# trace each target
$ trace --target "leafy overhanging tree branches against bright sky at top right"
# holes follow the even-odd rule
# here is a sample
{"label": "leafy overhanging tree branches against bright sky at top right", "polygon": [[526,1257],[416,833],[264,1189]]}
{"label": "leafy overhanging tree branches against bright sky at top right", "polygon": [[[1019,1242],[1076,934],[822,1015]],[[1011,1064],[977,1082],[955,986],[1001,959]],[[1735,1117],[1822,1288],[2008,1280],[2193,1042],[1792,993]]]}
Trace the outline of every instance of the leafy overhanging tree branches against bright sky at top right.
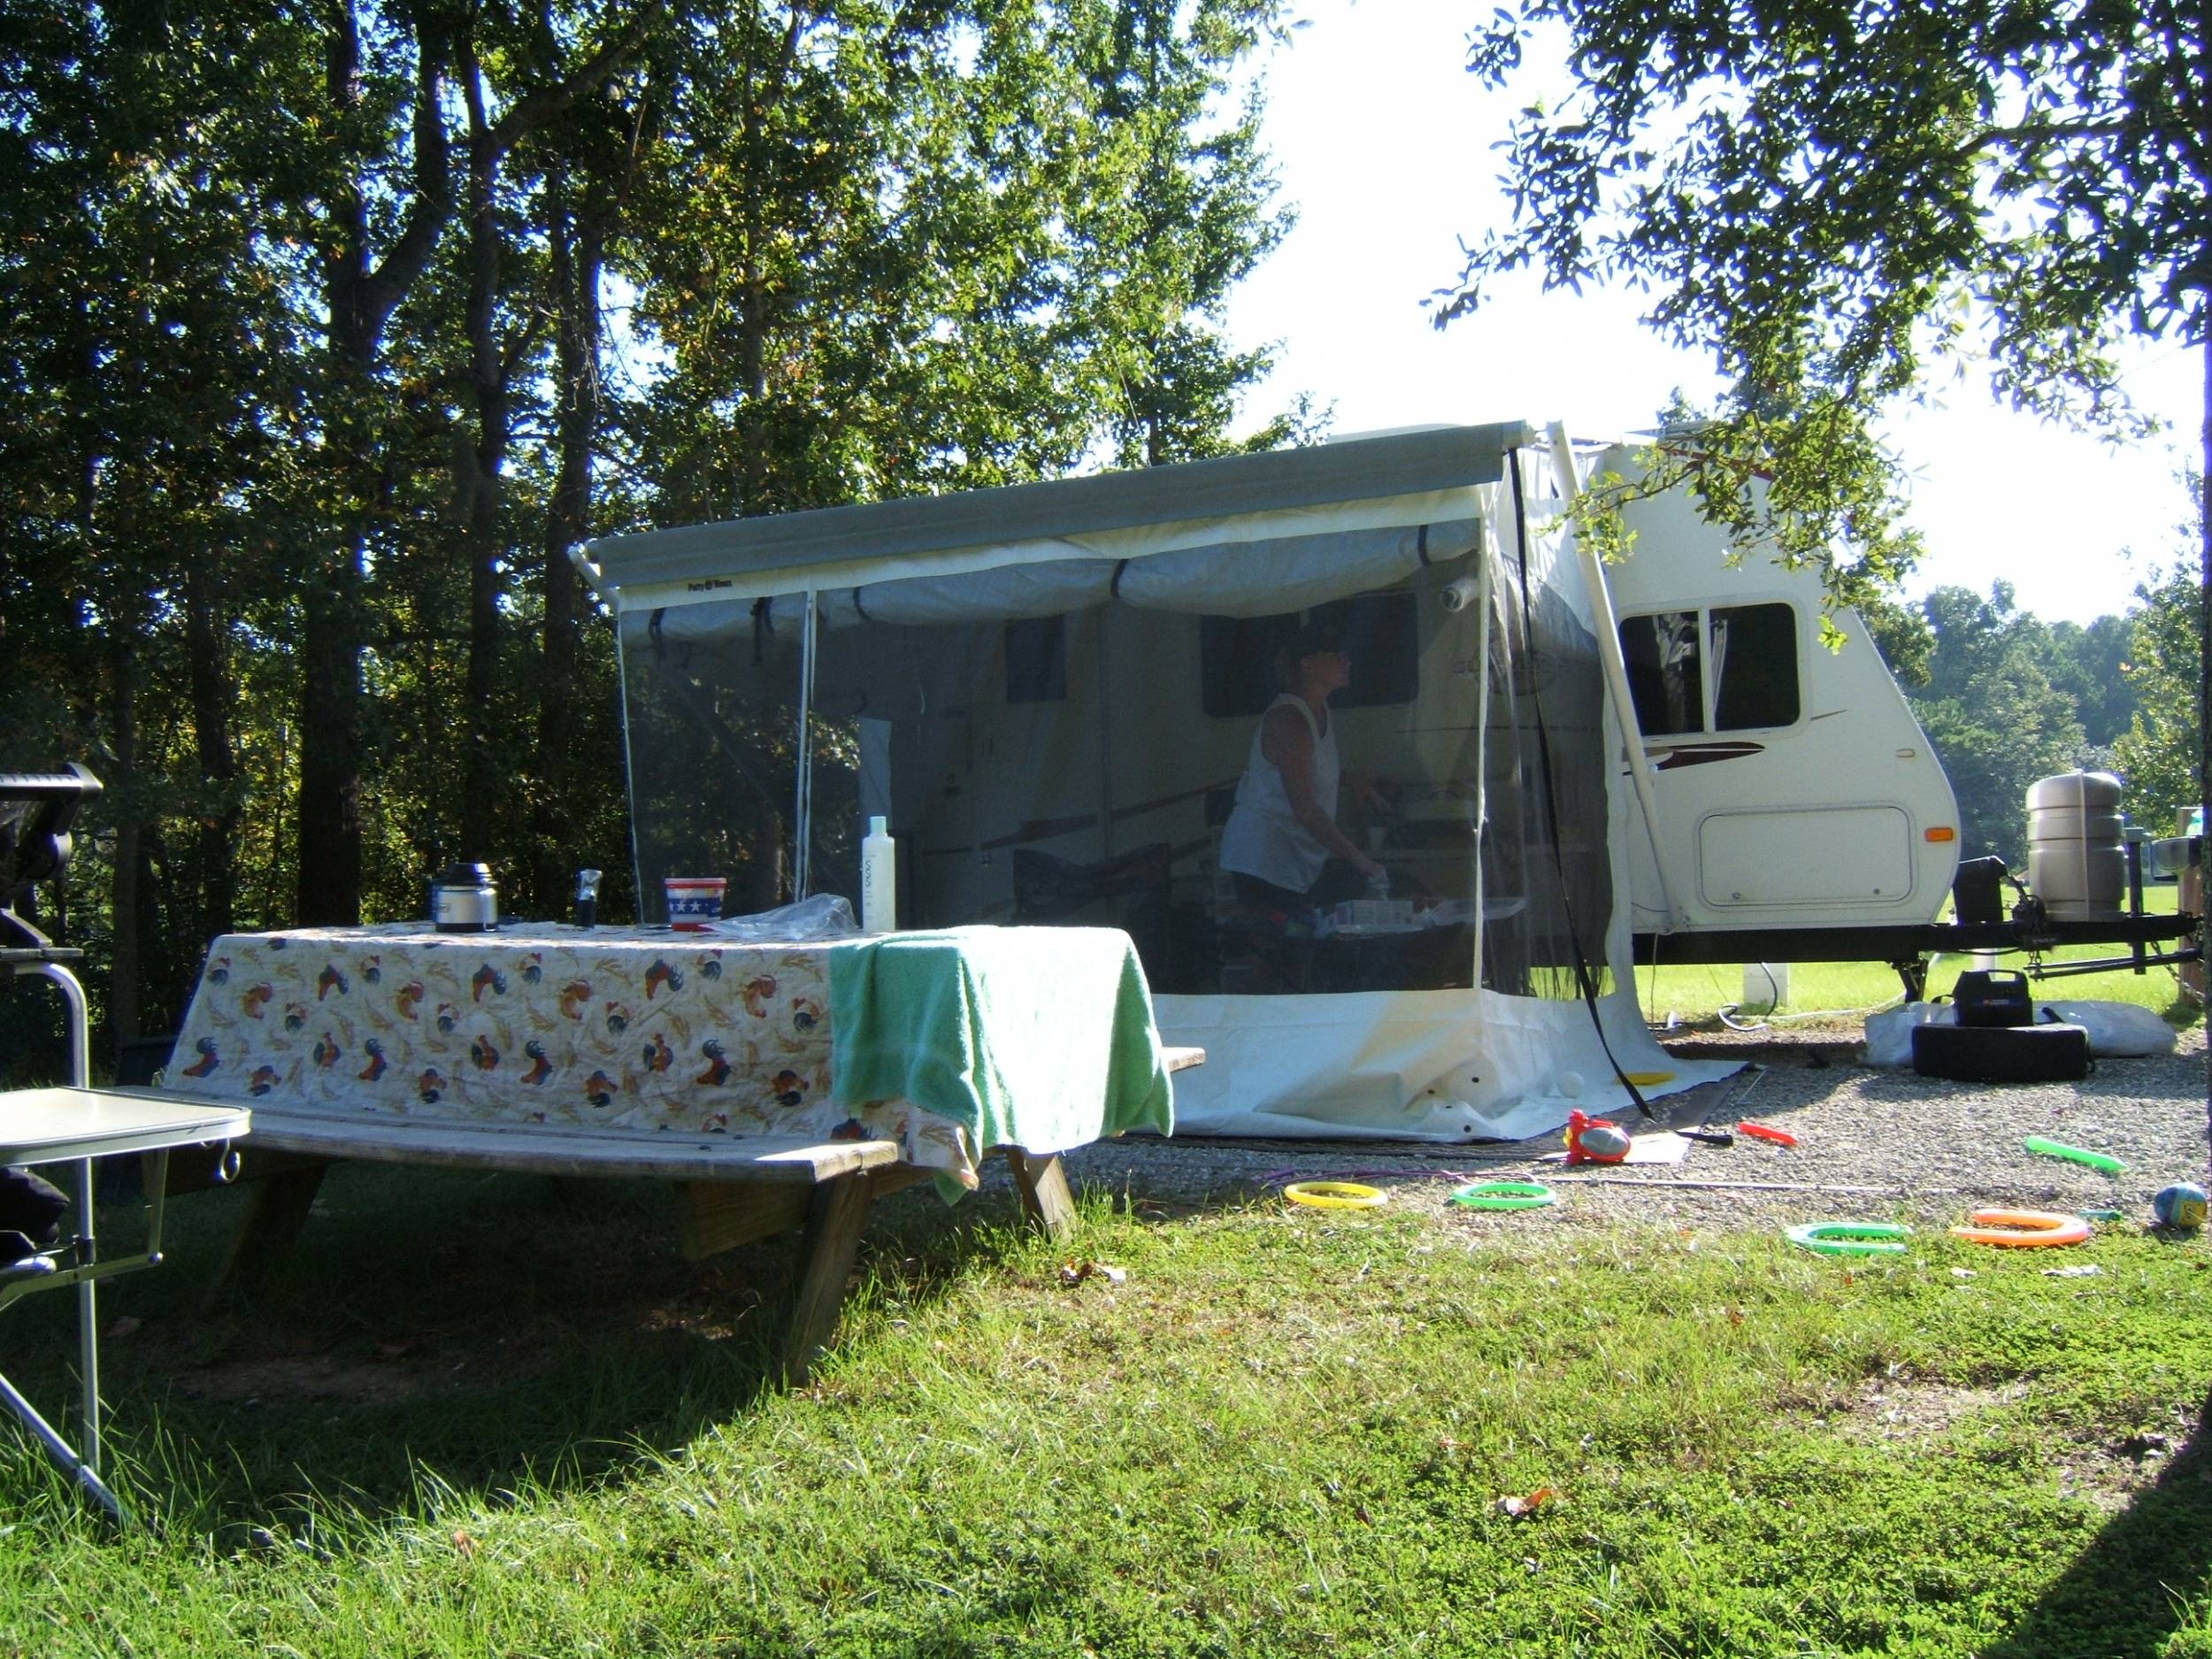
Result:
{"label": "leafy overhanging tree branches against bright sky at top right", "polygon": [[1438,323],[1522,268],[1648,288],[1734,387],[1652,487],[1688,478],[1838,597],[1916,553],[1885,403],[1986,352],[2013,400],[2128,427],[2115,336],[2208,336],[2201,7],[1520,0],[1469,69],[1506,84],[1555,31],[1573,88],[1517,117],[1511,217]]}

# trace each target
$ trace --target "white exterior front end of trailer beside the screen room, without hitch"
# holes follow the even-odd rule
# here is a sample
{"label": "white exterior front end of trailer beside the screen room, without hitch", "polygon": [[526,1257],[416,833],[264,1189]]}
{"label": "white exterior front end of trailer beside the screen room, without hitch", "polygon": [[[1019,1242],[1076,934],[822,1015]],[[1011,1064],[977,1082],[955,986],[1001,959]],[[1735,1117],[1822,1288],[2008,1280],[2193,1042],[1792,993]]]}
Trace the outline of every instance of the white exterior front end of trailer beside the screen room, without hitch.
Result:
{"label": "white exterior front end of trailer beside the screen room, without hitch", "polygon": [[[1637,453],[1613,447],[1595,471],[1635,478]],[[1818,573],[1732,562],[1683,491],[1626,522],[1632,553],[1606,586],[1652,805],[1630,847],[1639,940],[1663,962],[1690,936],[1933,922],[1958,801],[1867,624],[1832,613],[1832,648]]]}

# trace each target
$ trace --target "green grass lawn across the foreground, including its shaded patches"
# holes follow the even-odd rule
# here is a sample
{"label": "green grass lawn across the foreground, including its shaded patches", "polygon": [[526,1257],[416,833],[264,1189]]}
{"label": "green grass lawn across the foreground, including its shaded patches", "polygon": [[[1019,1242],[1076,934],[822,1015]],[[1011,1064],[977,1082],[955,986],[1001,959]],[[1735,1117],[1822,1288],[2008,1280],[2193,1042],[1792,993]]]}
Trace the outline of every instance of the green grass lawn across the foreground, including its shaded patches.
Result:
{"label": "green grass lawn across the foreground, including its shaded patches", "polygon": [[1088,1194],[1126,1279],[1068,1285],[1004,1206],[914,1201],[779,1394],[787,1252],[684,1267],[657,1194],[564,1197],[341,1172],[212,1323],[201,1201],[106,1303],[164,1526],[0,1455],[0,1652],[2212,1655],[2199,1241],[2046,1279]]}

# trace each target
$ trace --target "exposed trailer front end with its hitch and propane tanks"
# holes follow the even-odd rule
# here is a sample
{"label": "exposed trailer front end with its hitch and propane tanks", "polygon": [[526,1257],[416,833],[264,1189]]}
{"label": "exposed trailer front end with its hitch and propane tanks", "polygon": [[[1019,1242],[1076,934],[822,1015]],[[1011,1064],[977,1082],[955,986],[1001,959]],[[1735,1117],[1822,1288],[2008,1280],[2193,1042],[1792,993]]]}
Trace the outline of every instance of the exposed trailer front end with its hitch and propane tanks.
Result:
{"label": "exposed trailer front end with its hitch and propane tanks", "polygon": [[[1637,451],[1610,447],[1584,478],[1608,473],[1639,478]],[[1628,856],[1637,962],[1889,962],[1918,995],[1927,958],[1947,951],[2126,945],[2135,964],[2194,958],[2146,953],[2194,918],[2143,916],[2139,865],[2126,907],[2124,860],[2139,854],[2124,854],[2117,779],[2037,785],[2037,891],[2015,911],[1984,869],[1942,920],[1960,876],[1958,803],[1865,619],[1829,613],[1840,641],[1823,641],[1818,573],[1730,560],[1683,491],[1632,500],[1624,518],[1635,553],[1604,586],[1621,721],[1644,761],[1646,834]],[[2051,810],[2068,799],[2073,814]],[[2070,867],[2042,856],[2059,836]]]}

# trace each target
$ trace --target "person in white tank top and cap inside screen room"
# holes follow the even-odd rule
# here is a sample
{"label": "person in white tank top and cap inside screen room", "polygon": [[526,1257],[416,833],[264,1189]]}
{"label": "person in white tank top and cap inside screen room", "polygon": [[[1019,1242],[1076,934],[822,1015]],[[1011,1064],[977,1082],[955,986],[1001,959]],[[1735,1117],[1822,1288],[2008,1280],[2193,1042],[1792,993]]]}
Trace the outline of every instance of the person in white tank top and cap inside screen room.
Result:
{"label": "person in white tank top and cap inside screen room", "polygon": [[1307,624],[1276,653],[1283,692],[1261,714],[1237,805],[1221,830],[1221,867],[1252,909],[1303,911],[1383,896],[1389,876],[1336,827],[1345,783],[1383,807],[1371,783],[1347,779],[1329,697],[1352,684],[1343,635]]}

